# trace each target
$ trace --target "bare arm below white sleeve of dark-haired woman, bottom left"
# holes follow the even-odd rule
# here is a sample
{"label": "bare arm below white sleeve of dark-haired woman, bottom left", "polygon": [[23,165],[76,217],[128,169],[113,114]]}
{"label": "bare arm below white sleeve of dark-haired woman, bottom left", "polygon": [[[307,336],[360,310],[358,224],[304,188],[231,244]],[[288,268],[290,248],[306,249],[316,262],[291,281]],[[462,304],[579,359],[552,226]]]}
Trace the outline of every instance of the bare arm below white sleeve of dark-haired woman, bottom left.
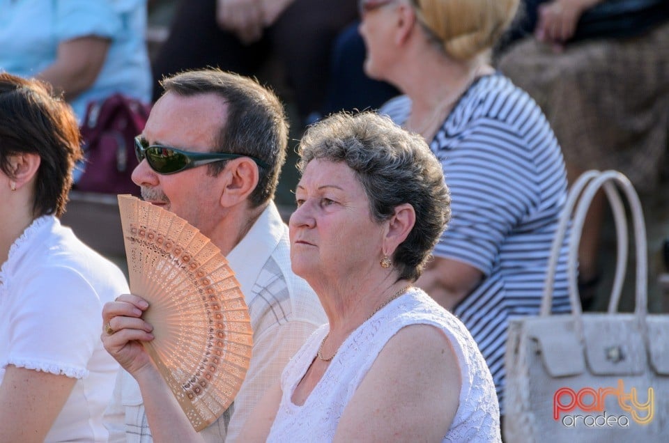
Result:
{"label": "bare arm below white sleeve of dark-haired woman, bottom left", "polygon": [[0,384],[0,442],[43,442],[76,382],[8,365]]}

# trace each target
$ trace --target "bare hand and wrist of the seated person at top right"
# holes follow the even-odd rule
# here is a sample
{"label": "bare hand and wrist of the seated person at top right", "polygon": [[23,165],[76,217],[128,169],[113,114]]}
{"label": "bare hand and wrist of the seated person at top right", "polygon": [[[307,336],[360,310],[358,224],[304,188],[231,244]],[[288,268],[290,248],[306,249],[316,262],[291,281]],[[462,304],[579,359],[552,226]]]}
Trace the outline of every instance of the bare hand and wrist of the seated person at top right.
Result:
{"label": "bare hand and wrist of the seated person at top right", "polygon": [[542,3],[537,10],[535,37],[551,43],[555,50],[562,49],[574,32],[583,13],[603,0],[553,0]]}

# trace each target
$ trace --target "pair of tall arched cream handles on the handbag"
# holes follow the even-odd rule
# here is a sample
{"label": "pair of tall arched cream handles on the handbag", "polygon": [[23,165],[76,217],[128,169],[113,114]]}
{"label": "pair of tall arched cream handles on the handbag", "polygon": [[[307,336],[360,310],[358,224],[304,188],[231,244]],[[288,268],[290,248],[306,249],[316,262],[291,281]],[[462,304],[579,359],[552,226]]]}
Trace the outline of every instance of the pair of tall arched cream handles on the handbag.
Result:
{"label": "pair of tall arched cream handles on the handbag", "polygon": [[[615,228],[617,234],[617,260],[616,272],[613,282],[613,289],[608,305],[608,312],[614,313],[617,311],[617,305],[620,301],[620,293],[622,292],[622,283],[626,274],[626,260],[628,252],[628,238],[627,238],[627,223],[624,212],[624,205],[620,198],[620,192],[615,188],[617,185],[622,194],[626,197],[629,203],[630,212],[633,221],[633,231],[635,235],[636,245],[636,317],[640,322],[643,322],[645,314],[647,313],[647,240],[645,232],[645,221],[643,217],[643,210],[641,203],[634,190],[633,185],[626,176],[618,171],[586,171],[574,182],[571,186],[567,202],[564,205],[564,210],[560,215],[558,228],[553,239],[551,247],[551,256],[548,260],[548,270],[546,272],[546,280],[544,282],[544,295],[541,300],[541,316],[548,316],[551,314],[551,305],[553,302],[553,283],[555,281],[555,271],[557,268],[557,260],[560,256],[560,249],[564,242],[564,237],[567,233],[567,227],[571,219],[571,212],[574,211],[574,218],[571,224],[571,235],[569,237],[569,258],[567,261],[568,285],[569,285],[569,300],[571,302],[571,309],[574,316],[577,317],[576,325],[580,329],[580,316],[582,309],[578,297],[578,244],[580,242],[580,235],[583,231],[583,224],[585,222],[585,215],[587,214],[590,203],[594,199],[595,194],[603,187],[606,196],[611,206],[613,216],[615,219]],[[582,195],[581,195],[582,194]],[[580,200],[578,197],[580,196]],[[578,201],[578,204],[576,203]]]}

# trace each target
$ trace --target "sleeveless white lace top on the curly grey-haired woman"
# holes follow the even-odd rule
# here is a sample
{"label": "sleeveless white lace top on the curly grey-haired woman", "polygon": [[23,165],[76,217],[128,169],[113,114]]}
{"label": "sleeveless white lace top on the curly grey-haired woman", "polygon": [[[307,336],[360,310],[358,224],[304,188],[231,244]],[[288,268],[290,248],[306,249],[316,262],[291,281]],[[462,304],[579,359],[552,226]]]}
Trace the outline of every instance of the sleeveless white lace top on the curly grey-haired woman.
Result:
{"label": "sleeveless white lace top on the curly grey-haired woman", "polygon": [[460,405],[443,442],[500,442],[495,385],[481,352],[460,320],[420,289],[390,302],[355,329],[342,343],[307,401],[298,406],[291,401],[293,392],[316,357],[329,327],[317,329],[284,369],[282,399],[267,441],[331,442],[341,414],[380,350],[399,329],[415,324],[442,329],[460,365]]}

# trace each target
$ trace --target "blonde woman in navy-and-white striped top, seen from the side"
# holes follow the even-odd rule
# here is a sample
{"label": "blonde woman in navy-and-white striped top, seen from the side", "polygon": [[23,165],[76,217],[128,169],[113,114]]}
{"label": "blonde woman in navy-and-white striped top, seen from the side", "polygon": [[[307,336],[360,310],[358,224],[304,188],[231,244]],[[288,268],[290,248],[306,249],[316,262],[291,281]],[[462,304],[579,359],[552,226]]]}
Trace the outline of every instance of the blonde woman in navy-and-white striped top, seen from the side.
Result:
{"label": "blonde woman in navy-and-white striped top, seen from the side", "polygon": [[[364,68],[405,95],[380,109],[441,162],[453,221],[417,286],[477,341],[503,414],[509,318],[539,313],[567,192],[560,146],[528,94],[489,64],[518,0],[362,0]],[[569,310],[567,247],[553,311]]]}

